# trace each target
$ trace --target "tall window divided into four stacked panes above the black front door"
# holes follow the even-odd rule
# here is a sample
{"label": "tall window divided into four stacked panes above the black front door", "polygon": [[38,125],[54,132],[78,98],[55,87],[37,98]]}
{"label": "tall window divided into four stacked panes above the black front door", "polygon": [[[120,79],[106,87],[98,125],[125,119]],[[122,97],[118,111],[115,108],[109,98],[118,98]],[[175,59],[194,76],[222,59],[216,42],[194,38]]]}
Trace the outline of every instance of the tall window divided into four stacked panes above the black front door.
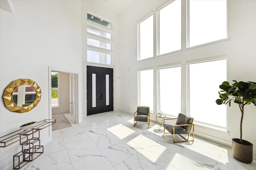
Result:
{"label": "tall window divided into four stacked panes above the black front door", "polygon": [[112,23],[87,14],[87,62],[112,64]]}

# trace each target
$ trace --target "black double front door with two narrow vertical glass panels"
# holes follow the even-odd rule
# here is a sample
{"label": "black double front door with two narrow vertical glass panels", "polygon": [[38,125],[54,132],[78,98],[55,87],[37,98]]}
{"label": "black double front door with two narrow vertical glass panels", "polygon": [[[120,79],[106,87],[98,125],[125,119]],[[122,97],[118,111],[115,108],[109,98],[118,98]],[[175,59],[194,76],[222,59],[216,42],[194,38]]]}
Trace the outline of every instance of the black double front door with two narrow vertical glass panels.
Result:
{"label": "black double front door with two narrow vertical glass panels", "polygon": [[113,110],[113,68],[87,66],[87,115]]}

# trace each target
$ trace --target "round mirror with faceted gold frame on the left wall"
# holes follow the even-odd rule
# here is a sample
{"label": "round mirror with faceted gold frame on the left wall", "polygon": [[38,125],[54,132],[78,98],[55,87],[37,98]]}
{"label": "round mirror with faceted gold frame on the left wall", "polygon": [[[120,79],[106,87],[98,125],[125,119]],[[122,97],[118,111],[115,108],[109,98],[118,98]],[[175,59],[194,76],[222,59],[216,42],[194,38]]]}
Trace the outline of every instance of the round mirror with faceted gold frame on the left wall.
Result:
{"label": "round mirror with faceted gold frame on the left wall", "polygon": [[4,90],[4,104],[10,111],[25,113],[37,106],[41,94],[36,82],[20,78],[11,82]]}

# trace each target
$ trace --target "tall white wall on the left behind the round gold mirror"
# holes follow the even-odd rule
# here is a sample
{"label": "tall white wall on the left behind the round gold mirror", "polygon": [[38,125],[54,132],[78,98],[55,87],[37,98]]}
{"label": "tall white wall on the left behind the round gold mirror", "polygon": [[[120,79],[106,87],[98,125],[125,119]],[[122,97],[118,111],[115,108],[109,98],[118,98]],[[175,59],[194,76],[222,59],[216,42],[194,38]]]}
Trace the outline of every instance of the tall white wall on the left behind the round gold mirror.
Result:
{"label": "tall white wall on the left behind the round gold mirror", "polygon": [[[78,90],[82,93],[81,1],[13,2],[14,14],[0,9],[0,92],[13,80],[29,78],[38,83],[42,97],[34,109],[22,114],[9,111],[0,102],[0,136],[24,123],[51,118],[48,66],[78,72]],[[82,95],[80,115],[81,101]],[[41,133],[41,139],[42,145],[51,140],[48,129]],[[11,166],[12,156],[20,149],[16,144],[0,148],[0,169]]]}

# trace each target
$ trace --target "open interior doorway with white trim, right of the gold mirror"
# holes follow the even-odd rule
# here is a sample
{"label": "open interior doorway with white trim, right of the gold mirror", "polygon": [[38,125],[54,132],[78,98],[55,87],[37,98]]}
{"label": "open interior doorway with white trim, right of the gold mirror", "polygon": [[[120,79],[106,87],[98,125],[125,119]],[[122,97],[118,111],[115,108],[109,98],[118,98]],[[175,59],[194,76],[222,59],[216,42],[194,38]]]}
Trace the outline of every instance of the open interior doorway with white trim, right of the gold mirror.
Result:
{"label": "open interior doorway with white trim, right of the gold mirror", "polygon": [[[58,104],[52,105],[52,80],[51,72],[58,72],[58,88],[54,88],[58,96]],[[70,123],[78,123],[78,74],[60,68],[49,67],[49,91],[50,108],[49,117],[58,114],[65,114]],[[58,90],[58,91],[57,91]],[[56,99],[55,99],[56,100]],[[72,122],[71,118],[72,117]]]}

